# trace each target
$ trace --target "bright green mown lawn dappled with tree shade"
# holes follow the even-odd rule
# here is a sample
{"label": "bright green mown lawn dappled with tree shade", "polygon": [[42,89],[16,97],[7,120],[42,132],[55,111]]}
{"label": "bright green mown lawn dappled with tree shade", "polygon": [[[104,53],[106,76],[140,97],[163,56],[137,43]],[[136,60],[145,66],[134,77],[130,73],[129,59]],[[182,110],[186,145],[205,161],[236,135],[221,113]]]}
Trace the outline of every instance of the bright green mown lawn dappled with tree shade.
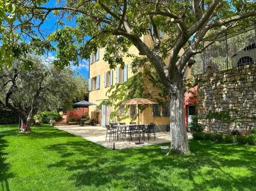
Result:
{"label": "bright green mown lawn dappled with tree shade", "polygon": [[0,126],[0,190],[255,190],[255,146],[189,145],[184,157],[159,145],[113,151],[49,126]]}

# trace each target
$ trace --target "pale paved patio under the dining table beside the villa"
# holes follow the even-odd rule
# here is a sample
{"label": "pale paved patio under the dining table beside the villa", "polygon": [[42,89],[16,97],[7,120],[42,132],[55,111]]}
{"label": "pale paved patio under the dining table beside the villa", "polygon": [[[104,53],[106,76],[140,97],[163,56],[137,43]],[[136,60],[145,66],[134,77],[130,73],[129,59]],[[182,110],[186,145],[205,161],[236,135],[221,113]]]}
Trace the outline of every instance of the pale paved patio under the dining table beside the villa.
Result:
{"label": "pale paved patio under the dining table beside the villa", "polygon": [[[102,145],[107,148],[113,148],[115,143],[115,149],[120,150],[123,148],[132,148],[132,147],[141,147],[147,145],[156,145],[161,143],[170,143],[170,132],[156,132],[156,140],[154,137],[150,137],[149,141],[145,138],[144,144],[136,145],[135,139],[130,142],[128,139],[119,139],[117,140],[110,139],[110,142],[106,142],[106,127],[97,127],[97,126],[56,126],[55,128],[67,131],[70,134],[83,137],[87,140],[90,140],[93,143]],[[188,139],[191,139],[192,136],[188,133]]]}

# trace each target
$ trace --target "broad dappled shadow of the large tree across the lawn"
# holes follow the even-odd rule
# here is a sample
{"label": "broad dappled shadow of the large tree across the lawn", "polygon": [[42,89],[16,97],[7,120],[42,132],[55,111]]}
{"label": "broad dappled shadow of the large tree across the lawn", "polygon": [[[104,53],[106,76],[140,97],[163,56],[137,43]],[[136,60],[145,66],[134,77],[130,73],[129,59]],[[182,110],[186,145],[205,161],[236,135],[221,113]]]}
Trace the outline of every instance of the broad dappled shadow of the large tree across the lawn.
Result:
{"label": "broad dappled shadow of the large tree across the lawn", "polygon": [[[159,145],[112,151],[86,140],[55,144],[46,149],[59,153],[62,158],[49,168],[72,172],[70,180],[76,187],[245,190],[255,188],[256,184],[256,148],[250,146],[191,140],[193,154],[183,157],[165,156]],[[229,168],[235,172],[227,171]],[[243,175],[240,169],[249,174]]]}

